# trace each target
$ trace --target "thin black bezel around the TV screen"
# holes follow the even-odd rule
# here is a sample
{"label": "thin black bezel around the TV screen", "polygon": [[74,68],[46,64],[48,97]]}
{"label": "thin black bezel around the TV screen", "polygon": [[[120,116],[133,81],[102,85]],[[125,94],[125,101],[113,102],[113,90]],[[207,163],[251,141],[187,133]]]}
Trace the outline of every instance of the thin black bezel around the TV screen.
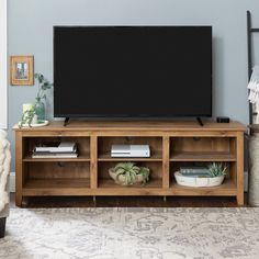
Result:
{"label": "thin black bezel around the TV screen", "polygon": [[[69,113],[55,113],[55,75],[56,75],[56,68],[55,68],[55,31],[57,29],[82,29],[82,27],[209,27],[211,29],[211,95],[210,95],[210,113],[207,114],[172,114],[170,116],[168,115],[153,115],[153,114],[69,114]],[[53,26],[53,69],[54,69],[54,117],[71,117],[71,119],[128,119],[128,120],[137,120],[137,119],[158,119],[158,120],[172,120],[176,117],[212,117],[212,108],[213,108],[213,26],[212,25],[55,25]]]}

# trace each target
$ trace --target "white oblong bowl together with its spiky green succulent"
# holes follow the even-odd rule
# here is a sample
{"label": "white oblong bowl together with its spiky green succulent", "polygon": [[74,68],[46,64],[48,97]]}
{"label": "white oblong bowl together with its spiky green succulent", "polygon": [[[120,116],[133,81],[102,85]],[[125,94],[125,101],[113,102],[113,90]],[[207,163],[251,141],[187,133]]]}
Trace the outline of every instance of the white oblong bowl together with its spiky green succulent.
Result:
{"label": "white oblong bowl together with its spiky green succulent", "polygon": [[212,162],[207,167],[207,176],[183,176],[174,172],[177,183],[184,187],[217,187],[221,185],[226,176],[226,166],[222,162]]}

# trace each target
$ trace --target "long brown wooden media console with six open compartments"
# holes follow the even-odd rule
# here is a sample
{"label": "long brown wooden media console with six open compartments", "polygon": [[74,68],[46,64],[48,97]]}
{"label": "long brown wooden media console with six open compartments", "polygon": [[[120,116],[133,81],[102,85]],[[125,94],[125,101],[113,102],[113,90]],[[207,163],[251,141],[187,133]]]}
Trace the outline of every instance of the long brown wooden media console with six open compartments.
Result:
{"label": "long brown wooden media console with six open compartments", "polygon": [[[244,204],[245,125],[232,122],[52,122],[45,127],[15,131],[16,205],[26,196],[188,195],[236,196]],[[45,142],[72,140],[78,158],[32,158]],[[112,144],[148,144],[149,158],[112,158]],[[109,176],[119,161],[150,168],[145,185],[122,187]],[[182,165],[219,161],[227,165],[223,184],[214,188],[178,185],[173,172]]]}

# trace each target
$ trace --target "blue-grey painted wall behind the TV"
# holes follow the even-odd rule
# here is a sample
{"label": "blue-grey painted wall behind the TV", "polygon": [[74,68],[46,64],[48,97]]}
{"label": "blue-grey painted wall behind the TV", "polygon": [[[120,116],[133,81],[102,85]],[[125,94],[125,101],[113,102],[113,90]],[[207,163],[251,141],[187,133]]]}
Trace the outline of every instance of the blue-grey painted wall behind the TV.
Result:
{"label": "blue-grey painted wall behind the TV", "polygon": [[[258,0],[9,0],[9,55],[34,55],[53,80],[53,25],[213,25],[214,115],[248,123],[246,10],[259,26]],[[255,42],[259,43],[258,37]],[[259,44],[257,60],[259,54]],[[188,70],[192,69],[187,64]],[[36,87],[9,87],[9,138]],[[52,117],[52,97],[48,116]],[[12,165],[14,171],[14,165]]]}

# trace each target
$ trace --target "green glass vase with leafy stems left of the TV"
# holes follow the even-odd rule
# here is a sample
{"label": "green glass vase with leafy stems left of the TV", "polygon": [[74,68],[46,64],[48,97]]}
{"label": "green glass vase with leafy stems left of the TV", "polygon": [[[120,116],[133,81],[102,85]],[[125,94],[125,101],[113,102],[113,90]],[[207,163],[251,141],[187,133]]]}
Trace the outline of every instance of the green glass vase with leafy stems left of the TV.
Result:
{"label": "green glass vase with leafy stems left of the TV", "polygon": [[43,122],[46,119],[45,114],[45,100],[46,100],[46,91],[53,87],[42,74],[34,75],[35,80],[37,81],[38,91],[36,101],[34,103],[35,114],[37,115],[38,122]]}

